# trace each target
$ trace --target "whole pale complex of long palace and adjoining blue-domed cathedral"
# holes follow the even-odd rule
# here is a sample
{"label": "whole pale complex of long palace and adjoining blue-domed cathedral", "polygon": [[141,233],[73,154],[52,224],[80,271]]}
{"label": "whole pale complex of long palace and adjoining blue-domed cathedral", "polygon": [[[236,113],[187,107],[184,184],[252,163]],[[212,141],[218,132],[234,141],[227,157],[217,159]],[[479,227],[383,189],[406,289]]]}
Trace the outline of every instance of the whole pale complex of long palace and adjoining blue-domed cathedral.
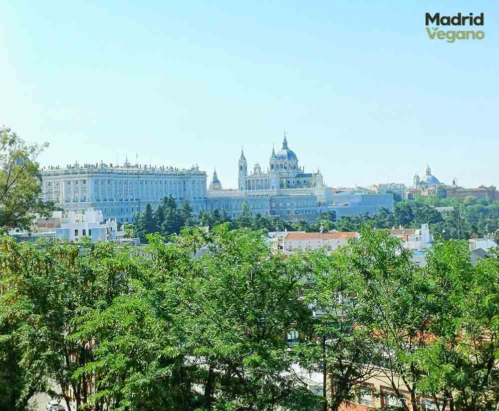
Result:
{"label": "whole pale complex of long palace and adjoining blue-domed cathedral", "polygon": [[198,214],[225,210],[231,217],[242,212],[246,200],[252,214],[275,215],[281,219],[313,221],[319,213],[332,211],[336,219],[346,215],[376,213],[381,207],[393,210],[392,194],[359,194],[337,192],[326,187],[322,174],[305,173],[296,154],[289,149],[286,135],[282,147],[272,149],[268,169],[258,164],[248,172],[243,151],[238,163],[238,189],[224,190],[214,172],[207,187],[207,174],[193,166],[190,169],[132,165],[123,166],[75,163],[65,169],[42,170],[45,200],[52,200],[64,210],[94,207],[104,218],[117,222],[133,221],[133,215],[147,203],[153,208],[161,199],[172,195],[179,205],[185,200]]}

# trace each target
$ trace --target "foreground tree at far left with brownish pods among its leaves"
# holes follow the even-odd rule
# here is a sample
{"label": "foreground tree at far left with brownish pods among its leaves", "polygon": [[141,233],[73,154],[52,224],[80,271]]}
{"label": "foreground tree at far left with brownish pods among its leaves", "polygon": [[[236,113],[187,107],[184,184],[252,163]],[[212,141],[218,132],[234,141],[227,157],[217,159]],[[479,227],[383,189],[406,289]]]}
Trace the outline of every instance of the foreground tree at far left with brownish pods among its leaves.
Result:
{"label": "foreground tree at far left with brownish pods among its leaves", "polygon": [[95,376],[75,372],[93,360],[95,338],[75,338],[73,333],[82,313],[105,309],[129,291],[136,268],[128,251],[112,243],[91,248],[57,242],[18,245],[9,237],[1,237],[0,243],[5,316],[22,324],[9,336],[19,347],[18,364],[25,373],[16,402],[24,404],[34,391],[55,396],[47,387],[51,378],[61,387],[67,409],[69,388],[80,409],[88,403],[86,387]]}

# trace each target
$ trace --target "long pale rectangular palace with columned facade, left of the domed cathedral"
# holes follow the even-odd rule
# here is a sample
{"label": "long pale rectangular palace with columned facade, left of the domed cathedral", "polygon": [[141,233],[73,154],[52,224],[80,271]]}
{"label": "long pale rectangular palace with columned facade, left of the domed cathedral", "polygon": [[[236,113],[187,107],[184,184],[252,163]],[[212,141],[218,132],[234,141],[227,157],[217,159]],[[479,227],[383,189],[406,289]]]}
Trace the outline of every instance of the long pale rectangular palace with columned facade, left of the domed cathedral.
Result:
{"label": "long pale rectangular palace with columned facade, left of the domed cathedral", "polygon": [[81,167],[76,163],[66,169],[44,169],[41,174],[46,201],[54,201],[65,210],[99,208],[105,219],[118,222],[133,221],[134,213],[143,211],[147,203],[156,207],[169,195],[179,203],[188,200],[195,212],[206,205],[206,172],[197,167],[151,169],[103,163]]}

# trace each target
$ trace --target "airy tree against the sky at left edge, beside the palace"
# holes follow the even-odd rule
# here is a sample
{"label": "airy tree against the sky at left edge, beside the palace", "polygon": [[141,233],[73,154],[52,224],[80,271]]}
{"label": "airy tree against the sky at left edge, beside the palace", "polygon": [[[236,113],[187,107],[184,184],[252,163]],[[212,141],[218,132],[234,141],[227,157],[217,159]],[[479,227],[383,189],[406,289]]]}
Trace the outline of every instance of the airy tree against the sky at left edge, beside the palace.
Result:
{"label": "airy tree against the sky at left edge, beside the palace", "polygon": [[8,128],[0,128],[0,230],[30,229],[33,213],[48,216],[53,202],[42,199],[36,163],[48,144],[27,145]]}

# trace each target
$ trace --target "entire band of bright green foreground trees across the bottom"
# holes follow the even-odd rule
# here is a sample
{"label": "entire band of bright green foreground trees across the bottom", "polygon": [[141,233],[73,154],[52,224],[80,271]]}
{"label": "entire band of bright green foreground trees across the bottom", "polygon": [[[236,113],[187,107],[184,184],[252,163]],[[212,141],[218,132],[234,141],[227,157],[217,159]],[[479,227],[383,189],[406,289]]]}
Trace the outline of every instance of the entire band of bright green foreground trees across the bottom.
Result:
{"label": "entire band of bright green foreground trees across the bottom", "polygon": [[[150,259],[0,237],[0,406],[25,411],[54,379],[78,410],[338,410],[375,373],[406,411],[498,409],[494,251],[474,265],[440,238],[419,268],[365,224],[331,255],[283,259],[232,224],[148,234]],[[323,371],[317,397],[304,377]]]}

